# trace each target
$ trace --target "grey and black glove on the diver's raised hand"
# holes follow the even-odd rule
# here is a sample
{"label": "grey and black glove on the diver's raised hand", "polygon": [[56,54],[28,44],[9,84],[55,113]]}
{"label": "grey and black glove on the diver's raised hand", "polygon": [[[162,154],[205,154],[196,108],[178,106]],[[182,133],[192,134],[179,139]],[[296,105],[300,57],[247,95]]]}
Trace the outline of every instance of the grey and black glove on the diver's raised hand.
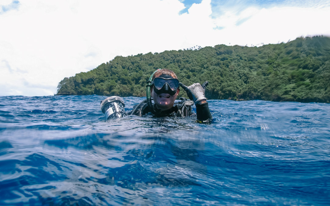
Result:
{"label": "grey and black glove on the diver's raised hand", "polygon": [[186,86],[179,82],[179,85],[186,91],[190,100],[194,101],[195,105],[200,104],[203,100],[206,101],[205,88],[209,84],[208,81],[204,82],[202,85],[200,83],[194,83],[190,86]]}

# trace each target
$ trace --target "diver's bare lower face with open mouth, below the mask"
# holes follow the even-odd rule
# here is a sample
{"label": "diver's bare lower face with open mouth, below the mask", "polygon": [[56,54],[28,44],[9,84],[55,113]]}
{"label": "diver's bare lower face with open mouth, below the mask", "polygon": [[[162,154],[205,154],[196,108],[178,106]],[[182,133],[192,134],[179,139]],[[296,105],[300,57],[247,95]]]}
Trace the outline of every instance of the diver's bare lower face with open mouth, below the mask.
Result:
{"label": "diver's bare lower face with open mouth, below the mask", "polygon": [[174,101],[177,99],[177,96],[180,92],[180,89],[178,89],[174,95],[170,95],[166,93],[156,94],[153,88],[151,88],[151,90],[151,96],[154,103],[156,104],[157,109],[162,111],[172,108]]}

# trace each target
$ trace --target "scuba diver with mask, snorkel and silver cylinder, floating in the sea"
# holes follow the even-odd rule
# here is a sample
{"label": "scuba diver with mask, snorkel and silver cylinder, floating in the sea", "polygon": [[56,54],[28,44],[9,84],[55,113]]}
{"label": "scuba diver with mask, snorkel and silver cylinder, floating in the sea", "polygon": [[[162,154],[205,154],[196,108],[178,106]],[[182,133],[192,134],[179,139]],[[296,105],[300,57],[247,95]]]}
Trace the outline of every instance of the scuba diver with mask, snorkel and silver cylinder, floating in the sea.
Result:
{"label": "scuba diver with mask, snorkel and silver cylinder, floating in the sea", "polygon": [[[177,75],[168,69],[158,69],[151,74],[147,81],[147,99],[135,105],[129,112],[125,112],[125,103],[121,97],[112,96],[101,101],[101,110],[106,119],[115,119],[126,115],[144,116],[152,114],[154,117],[186,117],[193,114],[191,106],[195,104],[197,122],[211,123],[212,115],[206,102],[205,88],[208,82],[194,83],[185,86],[179,82]],[[181,86],[190,100],[180,98],[180,102],[174,103]],[[154,104],[151,102],[151,97]]]}

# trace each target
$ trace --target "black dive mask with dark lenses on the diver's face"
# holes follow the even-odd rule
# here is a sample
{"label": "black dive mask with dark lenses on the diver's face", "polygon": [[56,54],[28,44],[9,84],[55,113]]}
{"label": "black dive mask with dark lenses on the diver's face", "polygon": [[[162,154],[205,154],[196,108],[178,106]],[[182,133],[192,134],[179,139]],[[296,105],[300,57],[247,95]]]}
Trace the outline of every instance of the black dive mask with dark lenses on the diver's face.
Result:
{"label": "black dive mask with dark lenses on the diver's face", "polygon": [[156,94],[175,95],[179,88],[179,80],[175,78],[156,77],[152,81],[153,89]]}

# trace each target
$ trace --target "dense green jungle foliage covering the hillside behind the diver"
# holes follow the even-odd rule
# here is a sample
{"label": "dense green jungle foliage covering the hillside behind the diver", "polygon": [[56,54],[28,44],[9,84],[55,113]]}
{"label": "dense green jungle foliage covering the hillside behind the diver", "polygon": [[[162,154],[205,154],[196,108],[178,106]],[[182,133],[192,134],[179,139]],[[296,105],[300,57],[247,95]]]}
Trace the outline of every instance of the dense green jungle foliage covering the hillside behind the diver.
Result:
{"label": "dense green jungle foliage covering the hillside behind the diver", "polygon": [[[57,95],[145,96],[159,68],[185,85],[209,81],[208,99],[330,103],[330,38],[297,38],[260,47],[216,45],[195,50],[116,56],[89,72],[65,77]],[[181,89],[178,97],[186,97]]]}

